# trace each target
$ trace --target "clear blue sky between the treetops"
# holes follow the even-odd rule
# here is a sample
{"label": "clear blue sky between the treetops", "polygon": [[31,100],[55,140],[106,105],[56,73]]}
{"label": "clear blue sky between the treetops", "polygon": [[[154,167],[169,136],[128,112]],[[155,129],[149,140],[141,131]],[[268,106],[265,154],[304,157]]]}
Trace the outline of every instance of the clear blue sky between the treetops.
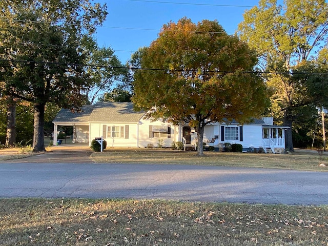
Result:
{"label": "clear blue sky between the treetops", "polygon": [[[109,13],[103,26],[97,29],[98,45],[111,47],[122,64],[125,64],[138,48],[149,46],[157,38],[162,25],[167,24],[170,20],[177,22],[185,16],[194,23],[202,19],[216,19],[226,32],[233,34],[238,24],[243,20],[244,11],[251,9],[251,7],[237,6],[258,5],[258,0],[149,1],[152,2],[139,0],[102,1],[107,3]],[[215,5],[230,5],[231,7]]]}

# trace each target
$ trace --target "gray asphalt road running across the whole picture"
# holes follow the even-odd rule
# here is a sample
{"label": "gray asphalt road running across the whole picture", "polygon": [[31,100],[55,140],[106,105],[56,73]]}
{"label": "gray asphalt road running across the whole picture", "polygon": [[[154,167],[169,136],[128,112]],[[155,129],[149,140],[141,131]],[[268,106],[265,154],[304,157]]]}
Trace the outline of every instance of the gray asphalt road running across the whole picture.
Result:
{"label": "gray asphalt road running across the whole picture", "polygon": [[87,163],[43,163],[22,159],[0,163],[0,197],[163,198],[328,204],[326,172],[115,165],[88,161],[84,158]]}

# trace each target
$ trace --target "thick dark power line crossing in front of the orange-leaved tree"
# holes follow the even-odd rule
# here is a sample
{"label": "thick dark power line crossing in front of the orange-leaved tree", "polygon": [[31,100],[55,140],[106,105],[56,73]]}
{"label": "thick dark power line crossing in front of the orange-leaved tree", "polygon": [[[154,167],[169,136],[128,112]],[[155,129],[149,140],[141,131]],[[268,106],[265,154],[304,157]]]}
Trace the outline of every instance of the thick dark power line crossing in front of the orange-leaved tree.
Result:
{"label": "thick dark power line crossing in front of the orange-leaved tree", "polygon": [[[94,64],[75,64],[75,63],[55,63],[50,61],[35,61],[35,60],[14,60],[14,59],[0,59],[0,61],[11,61],[13,63],[35,63],[47,65],[65,65],[75,67],[93,67],[93,68],[112,68],[112,69],[129,69],[129,70],[145,70],[145,71],[163,71],[163,72],[198,72],[198,70],[183,70],[183,69],[164,69],[164,68],[136,68],[136,67],[117,67],[117,66],[104,66]],[[216,74],[221,73],[234,73],[234,71],[207,71]],[[265,72],[265,71],[240,71],[241,73],[248,74],[304,74],[304,75],[328,75],[328,73],[310,73],[310,72]]]}

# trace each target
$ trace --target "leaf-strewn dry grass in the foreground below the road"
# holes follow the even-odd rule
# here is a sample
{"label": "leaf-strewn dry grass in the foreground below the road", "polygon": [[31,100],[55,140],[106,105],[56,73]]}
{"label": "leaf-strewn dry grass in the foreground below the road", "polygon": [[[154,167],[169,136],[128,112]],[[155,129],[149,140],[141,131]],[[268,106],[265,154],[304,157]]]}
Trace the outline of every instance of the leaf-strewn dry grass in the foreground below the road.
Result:
{"label": "leaf-strewn dry grass in the foreground below the road", "polygon": [[328,207],[0,199],[1,245],[328,245]]}

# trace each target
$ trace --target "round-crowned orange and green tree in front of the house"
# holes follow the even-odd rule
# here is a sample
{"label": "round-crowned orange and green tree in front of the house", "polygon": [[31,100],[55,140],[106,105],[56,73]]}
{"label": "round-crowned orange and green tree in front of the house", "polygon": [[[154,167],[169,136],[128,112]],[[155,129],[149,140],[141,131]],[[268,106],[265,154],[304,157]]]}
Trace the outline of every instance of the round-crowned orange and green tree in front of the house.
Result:
{"label": "round-crowned orange and green tree in front of the house", "polygon": [[255,52],[216,21],[182,18],[163,25],[137,57],[136,108],[175,125],[189,122],[197,132],[198,155],[206,125],[233,119],[243,124],[263,112],[265,86],[253,70]]}

